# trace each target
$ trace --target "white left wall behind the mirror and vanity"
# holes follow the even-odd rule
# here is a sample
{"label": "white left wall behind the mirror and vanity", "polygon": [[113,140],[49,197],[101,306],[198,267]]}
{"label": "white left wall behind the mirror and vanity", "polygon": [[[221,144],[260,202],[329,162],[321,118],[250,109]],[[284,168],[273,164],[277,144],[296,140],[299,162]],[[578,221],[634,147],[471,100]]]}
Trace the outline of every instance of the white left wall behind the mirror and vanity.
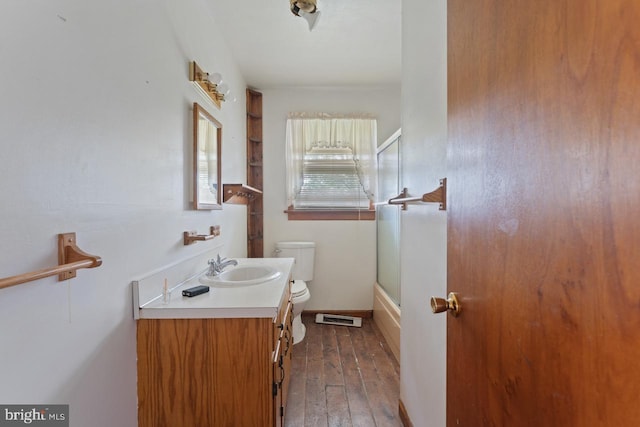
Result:
{"label": "white left wall behind the mirror and vanity", "polygon": [[[214,245],[246,255],[246,208],[189,204],[194,101],[223,124],[223,181],[245,179],[245,83],[202,0],[5,0],[0,40],[0,277],[57,264],[62,232],[103,259],[0,290],[0,403],[135,426],[131,279]],[[205,101],[190,60],[238,101]],[[183,246],[214,224],[220,238]]]}

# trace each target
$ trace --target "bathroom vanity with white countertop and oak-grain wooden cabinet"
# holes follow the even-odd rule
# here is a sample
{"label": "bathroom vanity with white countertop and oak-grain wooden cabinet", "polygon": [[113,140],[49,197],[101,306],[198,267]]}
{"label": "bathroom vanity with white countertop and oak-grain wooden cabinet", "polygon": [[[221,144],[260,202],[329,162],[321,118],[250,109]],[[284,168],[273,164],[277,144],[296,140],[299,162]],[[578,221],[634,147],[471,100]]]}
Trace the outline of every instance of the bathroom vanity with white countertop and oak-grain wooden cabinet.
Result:
{"label": "bathroom vanity with white countertop and oak-grain wooden cabinet", "polygon": [[281,274],[183,297],[182,289],[200,284],[194,278],[172,289],[170,301],[140,306],[140,427],[283,425],[293,348],[292,262],[241,259],[230,269],[263,263]]}

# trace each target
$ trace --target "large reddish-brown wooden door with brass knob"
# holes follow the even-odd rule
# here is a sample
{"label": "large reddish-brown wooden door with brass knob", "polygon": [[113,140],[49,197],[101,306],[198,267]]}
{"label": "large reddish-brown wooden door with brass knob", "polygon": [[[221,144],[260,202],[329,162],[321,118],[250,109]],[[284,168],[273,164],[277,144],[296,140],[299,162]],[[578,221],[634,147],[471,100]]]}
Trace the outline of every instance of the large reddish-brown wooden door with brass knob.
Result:
{"label": "large reddish-brown wooden door with brass knob", "polygon": [[449,426],[640,425],[640,2],[448,2]]}

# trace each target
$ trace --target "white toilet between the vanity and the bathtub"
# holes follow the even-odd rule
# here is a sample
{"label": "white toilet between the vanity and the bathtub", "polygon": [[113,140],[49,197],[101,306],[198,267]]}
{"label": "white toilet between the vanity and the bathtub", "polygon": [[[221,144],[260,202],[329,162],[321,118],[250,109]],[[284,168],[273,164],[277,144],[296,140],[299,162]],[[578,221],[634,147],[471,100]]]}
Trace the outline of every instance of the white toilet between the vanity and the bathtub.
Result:
{"label": "white toilet between the vanity and the bathtub", "polygon": [[308,281],[313,280],[313,258],[316,253],[314,242],[278,242],[276,256],[279,258],[294,258],[291,278],[291,300],[293,302],[293,343],[298,344],[304,339],[306,328],[302,323],[302,311],[311,298],[307,288]]}

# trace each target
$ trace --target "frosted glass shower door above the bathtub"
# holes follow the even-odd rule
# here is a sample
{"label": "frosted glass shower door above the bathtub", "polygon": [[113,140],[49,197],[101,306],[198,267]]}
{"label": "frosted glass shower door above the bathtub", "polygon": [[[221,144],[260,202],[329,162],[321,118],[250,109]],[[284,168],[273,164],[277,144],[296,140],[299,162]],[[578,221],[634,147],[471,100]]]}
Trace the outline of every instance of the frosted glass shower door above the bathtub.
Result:
{"label": "frosted glass shower door above the bathtub", "polygon": [[[400,193],[400,132],[378,148],[378,201]],[[378,205],[377,254],[378,284],[400,306],[400,209]]]}

